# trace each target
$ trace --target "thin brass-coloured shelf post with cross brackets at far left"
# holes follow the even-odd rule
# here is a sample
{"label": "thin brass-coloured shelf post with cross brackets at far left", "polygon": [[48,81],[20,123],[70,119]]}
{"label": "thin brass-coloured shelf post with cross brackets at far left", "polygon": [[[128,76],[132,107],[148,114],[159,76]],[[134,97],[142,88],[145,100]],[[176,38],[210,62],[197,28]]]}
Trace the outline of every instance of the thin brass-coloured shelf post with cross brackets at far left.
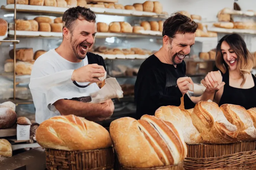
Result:
{"label": "thin brass-coloured shelf post with cross brackets at far left", "polygon": [[[7,101],[11,101],[16,105],[21,104],[32,104],[33,101],[28,100],[19,100],[16,99],[16,44],[20,41],[16,38],[16,0],[14,0],[14,40],[1,40],[0,42],[12,42],[13,43],[13,51],[14,51],[14,58],[13,58],[13,99],[8,99]],[[4,100],[6,101],[6,100]],[[0,103],[4,102],[0,101]]]}

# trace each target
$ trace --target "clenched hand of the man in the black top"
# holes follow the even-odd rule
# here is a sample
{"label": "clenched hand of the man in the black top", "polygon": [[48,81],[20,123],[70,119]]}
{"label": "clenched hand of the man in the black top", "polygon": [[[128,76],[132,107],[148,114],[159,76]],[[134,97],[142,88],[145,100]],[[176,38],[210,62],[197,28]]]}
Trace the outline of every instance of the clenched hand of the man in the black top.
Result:
{"label": "clenched hand of the man in the black top", "polygon": [[180,77],[177,80],[177,86],[180,89],[182,95],[186,94],[188,90],[194,90],[194,83],[190,77]]}

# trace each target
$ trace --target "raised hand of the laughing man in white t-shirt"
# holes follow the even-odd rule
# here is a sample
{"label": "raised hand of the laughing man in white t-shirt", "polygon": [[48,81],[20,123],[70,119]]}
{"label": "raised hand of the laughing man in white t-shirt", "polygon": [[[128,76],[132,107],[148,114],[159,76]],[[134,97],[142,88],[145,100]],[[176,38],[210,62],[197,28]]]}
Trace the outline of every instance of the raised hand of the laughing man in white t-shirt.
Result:
{"label": "raised hand of the laughing man in white t-shirt", "polygon": [[105,75],[105,72],[106,71],[102,65],[88,64],[86,66],[74,70],[71,76],[71,80],[80,83],[95,83],[100,81],[98,78],[103,77]]}

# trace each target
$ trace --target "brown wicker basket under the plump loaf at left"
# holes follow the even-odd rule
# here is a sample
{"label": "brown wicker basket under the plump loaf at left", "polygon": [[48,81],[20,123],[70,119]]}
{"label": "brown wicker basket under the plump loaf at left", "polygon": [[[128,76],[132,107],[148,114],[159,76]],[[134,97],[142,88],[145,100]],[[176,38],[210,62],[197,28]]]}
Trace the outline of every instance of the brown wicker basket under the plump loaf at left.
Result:
{"label": "brown wicker basket under the plump loaf at left", "polygon": [[113,147],[85,151],[46,149],[48,170],[113,170]]}

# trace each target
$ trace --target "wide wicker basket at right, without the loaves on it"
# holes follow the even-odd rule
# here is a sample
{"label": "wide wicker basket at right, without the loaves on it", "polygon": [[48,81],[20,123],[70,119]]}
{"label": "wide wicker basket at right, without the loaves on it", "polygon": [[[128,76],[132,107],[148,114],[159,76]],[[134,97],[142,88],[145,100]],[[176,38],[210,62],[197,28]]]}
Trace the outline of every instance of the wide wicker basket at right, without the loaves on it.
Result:
{"label": "wide wicker basket at right, without the loaves on it", "polygon": [[256,170],[256,141],[188,144],[185,170]]}

